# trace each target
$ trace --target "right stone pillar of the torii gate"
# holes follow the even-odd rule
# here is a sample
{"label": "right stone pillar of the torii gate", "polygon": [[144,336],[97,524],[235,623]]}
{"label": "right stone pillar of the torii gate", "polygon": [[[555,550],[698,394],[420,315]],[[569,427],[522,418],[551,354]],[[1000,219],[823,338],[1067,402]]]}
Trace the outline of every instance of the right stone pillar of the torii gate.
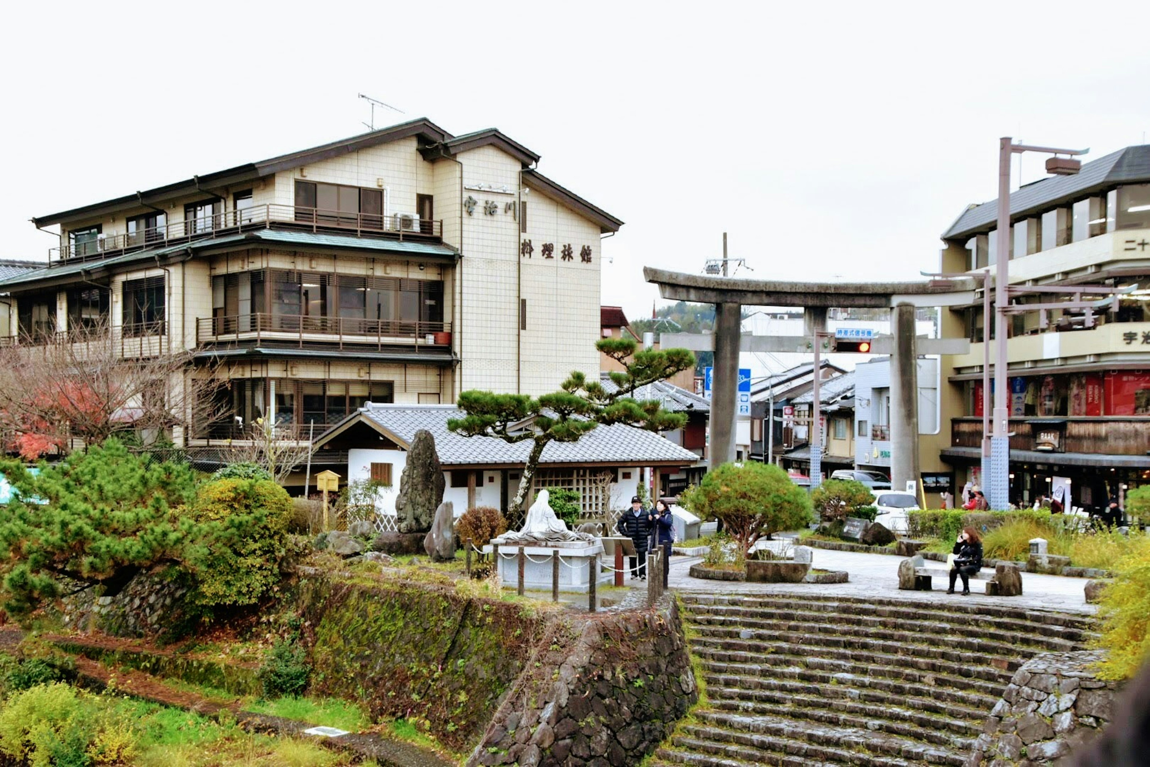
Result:
{"label": "right stone pillar of the torii gate", "polygon": [[[891,309],[895,353],[890,358],[890,489],[919,481],[919,361],[914,344],[914,307]],[[915,494],[918,492],[915,491]]]}

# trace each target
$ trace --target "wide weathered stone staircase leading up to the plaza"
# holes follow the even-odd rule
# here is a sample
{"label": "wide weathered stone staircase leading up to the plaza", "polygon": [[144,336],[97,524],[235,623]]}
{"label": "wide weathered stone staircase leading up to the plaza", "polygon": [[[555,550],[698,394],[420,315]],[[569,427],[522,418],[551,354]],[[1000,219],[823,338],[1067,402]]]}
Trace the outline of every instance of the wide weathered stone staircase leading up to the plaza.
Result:
{"label": "wide weathered stone staircase leading up to the plaza", "polygon": [[960,766],[1022,662],[1092,636],[1084,615],[961,597],[681,598],[706,703],[652,767]]}

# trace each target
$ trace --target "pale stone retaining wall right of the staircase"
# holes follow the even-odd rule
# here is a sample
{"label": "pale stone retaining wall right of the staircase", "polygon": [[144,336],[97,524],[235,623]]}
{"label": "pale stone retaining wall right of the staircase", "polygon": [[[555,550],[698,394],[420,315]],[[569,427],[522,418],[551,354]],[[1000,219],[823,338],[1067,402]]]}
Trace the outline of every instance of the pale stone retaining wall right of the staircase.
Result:
{"label": "pale stone retaining wall right of the staircase", "polygon": [[1044,653],[1003,692],[967,767],[1044,765],[1092,738],[1111,720],[1117,685],[1095,676],[1099,651]]}

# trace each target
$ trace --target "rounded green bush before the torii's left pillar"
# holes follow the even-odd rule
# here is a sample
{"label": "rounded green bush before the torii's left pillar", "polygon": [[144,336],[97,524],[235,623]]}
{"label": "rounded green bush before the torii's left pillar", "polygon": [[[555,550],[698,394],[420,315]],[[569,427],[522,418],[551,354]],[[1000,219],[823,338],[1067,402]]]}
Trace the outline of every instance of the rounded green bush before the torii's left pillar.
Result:
{"label": "rounded green bush before the torii's left pillar", "polygon": [[696,514],[722,522],[744,559],[762,536],[811,522],[810,496],[773,463],[723,463],[680,499],[684,496]]}

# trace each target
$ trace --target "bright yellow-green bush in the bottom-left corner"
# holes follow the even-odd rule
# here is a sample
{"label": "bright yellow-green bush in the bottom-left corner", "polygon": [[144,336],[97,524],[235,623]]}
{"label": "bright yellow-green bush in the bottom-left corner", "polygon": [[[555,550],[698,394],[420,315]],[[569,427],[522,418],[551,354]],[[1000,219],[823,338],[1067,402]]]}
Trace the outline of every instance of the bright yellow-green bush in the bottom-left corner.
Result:
{"label": "bright yellow-green bush in the bottom-left corner", "polygon": [[60,682],[17,692],[0,710],[0,752],[30,767],[87,767],[97,733],[94,706]]}

